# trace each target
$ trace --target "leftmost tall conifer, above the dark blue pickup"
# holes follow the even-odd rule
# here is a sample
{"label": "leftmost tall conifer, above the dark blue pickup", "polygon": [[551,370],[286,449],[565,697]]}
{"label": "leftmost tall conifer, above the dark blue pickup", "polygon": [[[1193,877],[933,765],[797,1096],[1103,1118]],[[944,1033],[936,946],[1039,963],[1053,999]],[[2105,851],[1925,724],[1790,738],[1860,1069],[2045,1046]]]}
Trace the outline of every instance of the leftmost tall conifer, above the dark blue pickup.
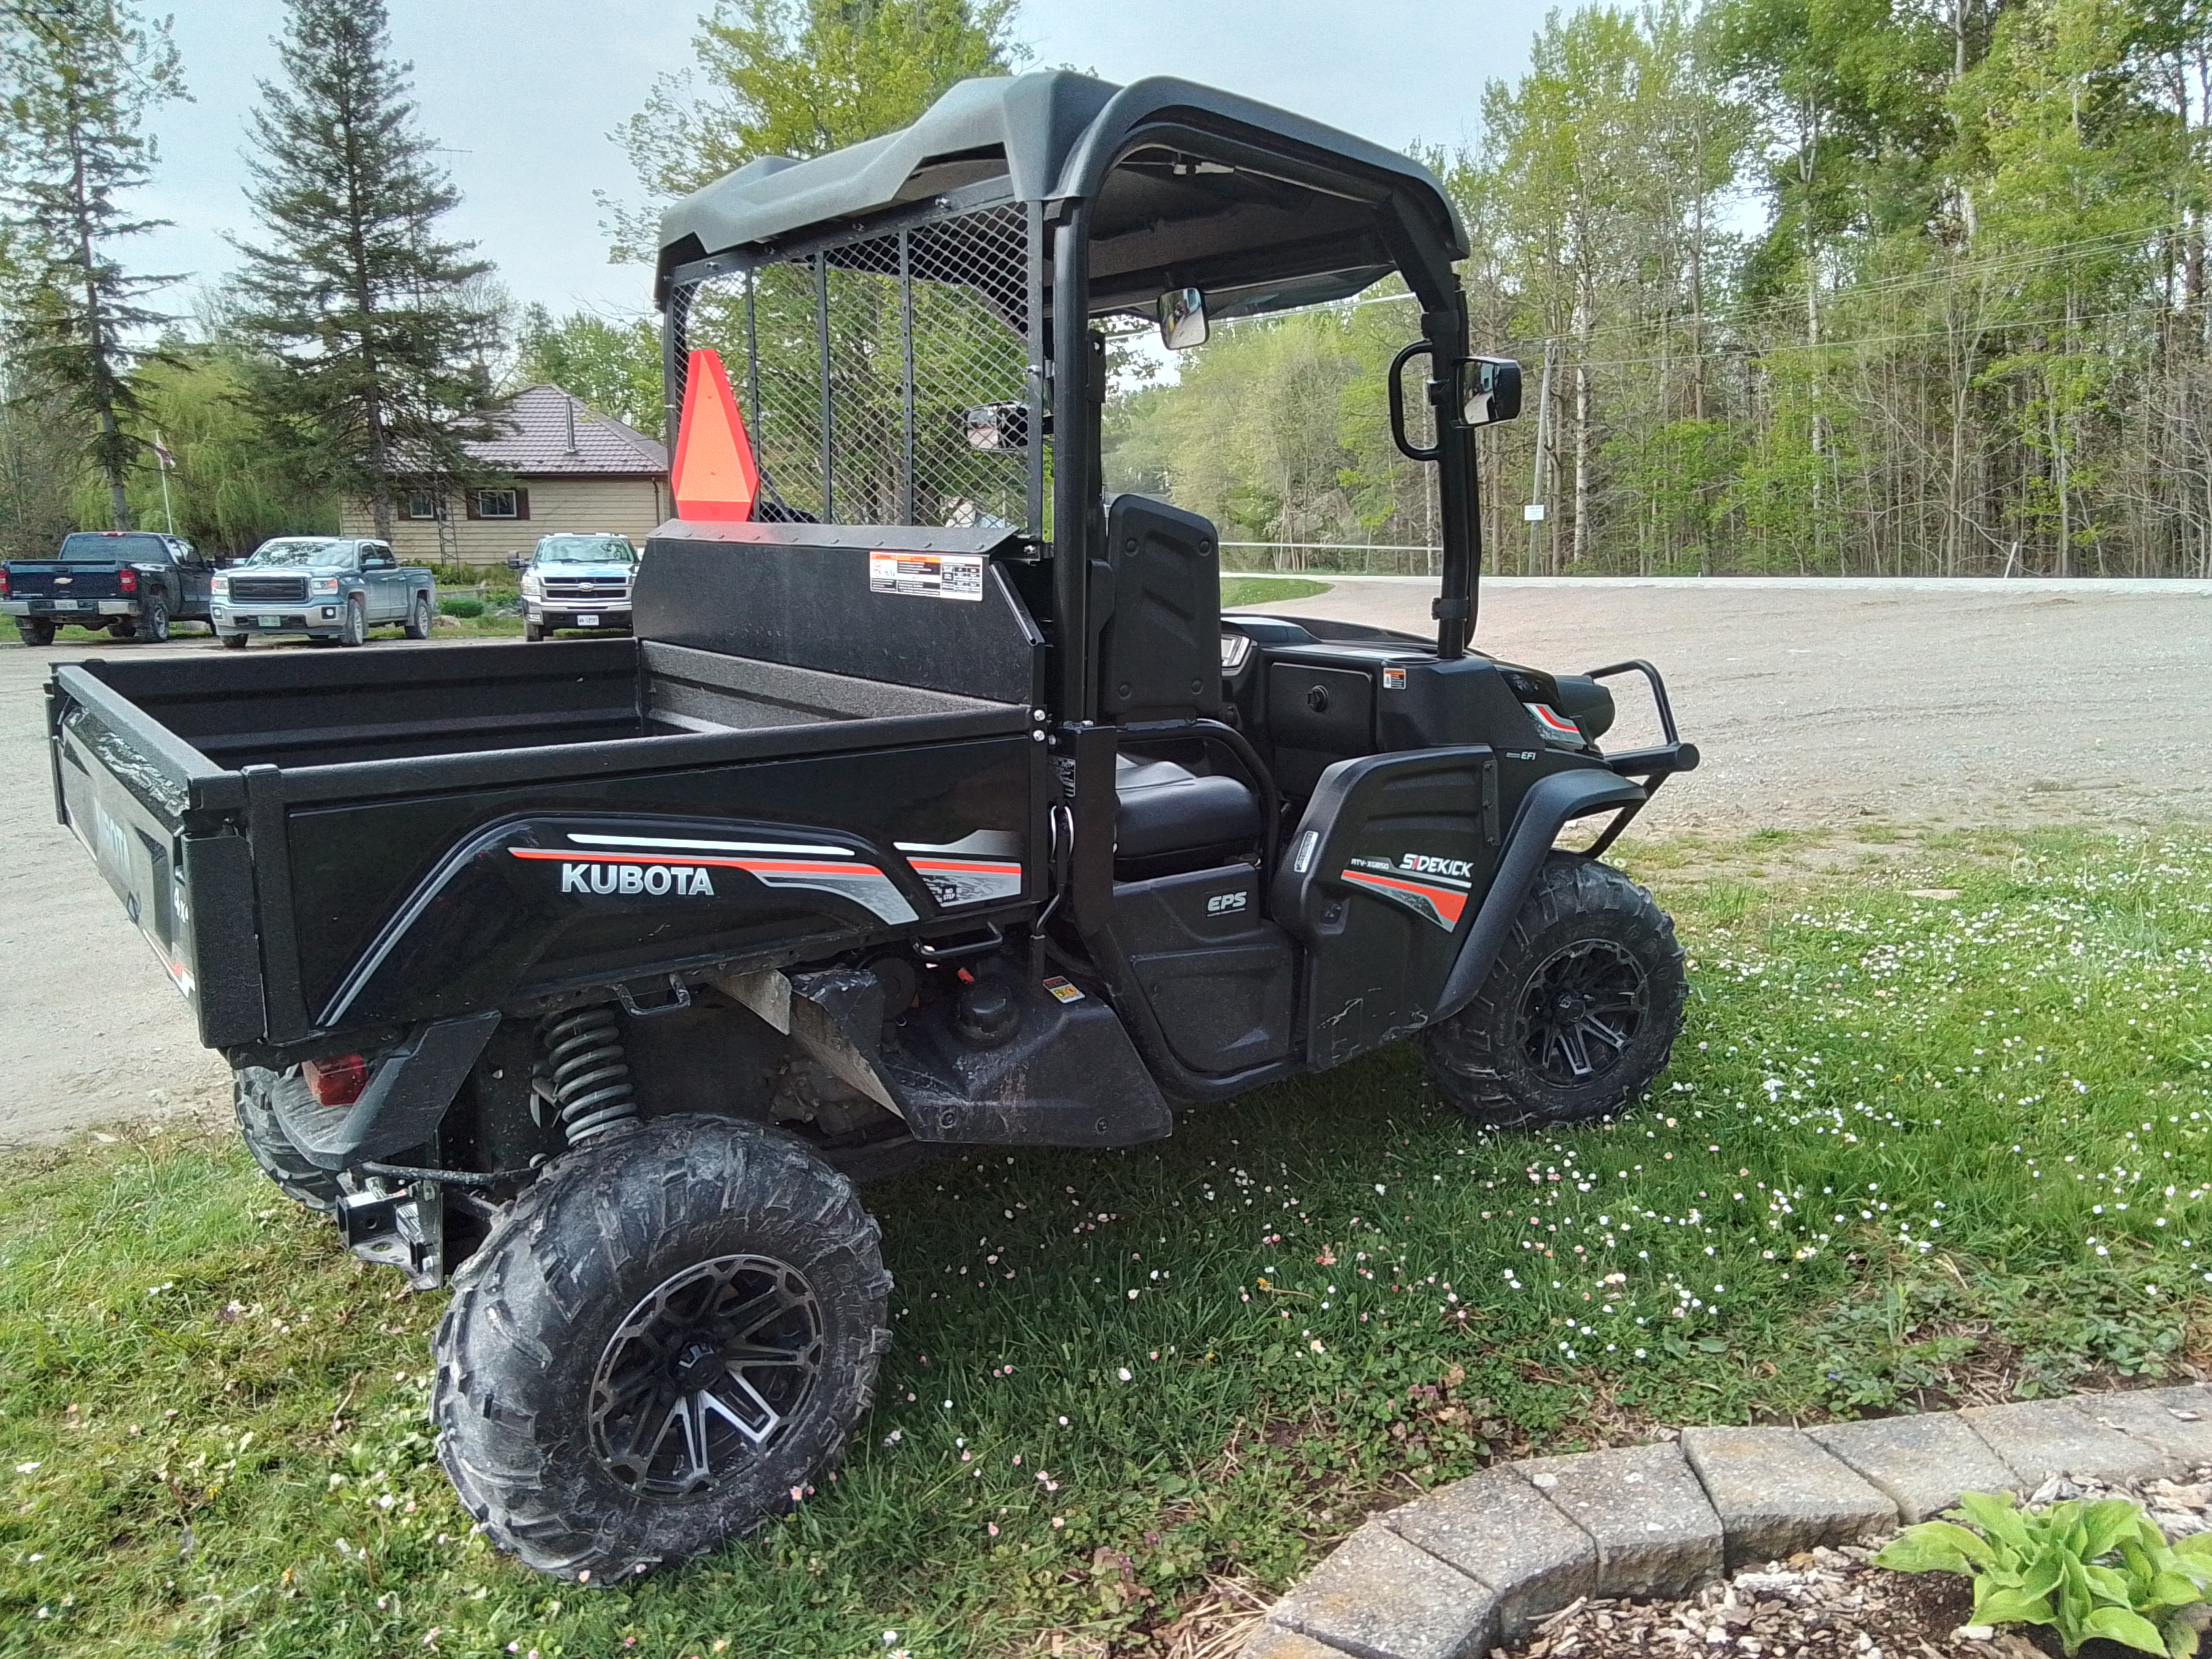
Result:
{"label": "leftmost tall conifer, above the dark blue pickup", "polygon": [[133,336],[161,323],[142,301],[173,276],[133,276],[115,243],[159,219],[133,219],[124,197],[153,175],[146,113],[184,95],[168,20],[128,0],[9,7],[0,22],[7,142],[0,190],[13,210],[7,325],[15,367],[42,409],[86,431],[106,480],[108,518],[131,529],[124,480],[139,438]]}

